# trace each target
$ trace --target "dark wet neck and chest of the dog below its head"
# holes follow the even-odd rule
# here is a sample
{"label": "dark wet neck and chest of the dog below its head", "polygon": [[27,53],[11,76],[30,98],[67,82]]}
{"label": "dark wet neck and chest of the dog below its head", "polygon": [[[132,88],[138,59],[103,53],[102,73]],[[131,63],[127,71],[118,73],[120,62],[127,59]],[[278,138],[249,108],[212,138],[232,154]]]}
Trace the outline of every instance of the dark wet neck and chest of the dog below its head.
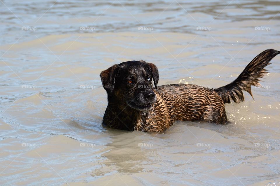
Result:
{"label": "dark wet neck and chest of the dog below its head", "polygon": [[108,106],[104,114],[104,120],[108,126],[122,130],[141,130],[146,112],[131,108],[118,99],[117,96],[108,96]]}

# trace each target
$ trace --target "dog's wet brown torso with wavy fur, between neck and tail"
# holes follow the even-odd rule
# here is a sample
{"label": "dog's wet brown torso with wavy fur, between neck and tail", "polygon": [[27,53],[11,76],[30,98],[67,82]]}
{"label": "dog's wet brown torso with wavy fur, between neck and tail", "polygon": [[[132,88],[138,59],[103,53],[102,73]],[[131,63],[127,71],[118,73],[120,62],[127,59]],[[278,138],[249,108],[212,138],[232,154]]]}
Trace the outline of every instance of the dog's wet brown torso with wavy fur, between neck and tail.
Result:
{"label": "dog's wet brown torso with wavy fur, between neck and tail", "polygon": [[227,121],[223,100],[213,90],[192,84],[171,84],[154,89],[157,101],[136,130],[162,132],[174,121]]}

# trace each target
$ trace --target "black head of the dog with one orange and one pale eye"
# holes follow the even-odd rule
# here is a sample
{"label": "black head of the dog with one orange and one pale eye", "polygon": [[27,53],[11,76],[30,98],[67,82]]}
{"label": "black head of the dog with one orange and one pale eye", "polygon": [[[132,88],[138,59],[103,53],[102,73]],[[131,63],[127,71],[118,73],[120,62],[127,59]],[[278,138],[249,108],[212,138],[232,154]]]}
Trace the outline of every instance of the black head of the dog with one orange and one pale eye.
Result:
{"label": "black head of the dog with one orange and one pale eye", "polygon": [[152,63],[122,62],[102,71],[100,77],[108,96],[117,97],[136,110],[148,111],[155,102],[152,80],[157,89],[158,70]]}

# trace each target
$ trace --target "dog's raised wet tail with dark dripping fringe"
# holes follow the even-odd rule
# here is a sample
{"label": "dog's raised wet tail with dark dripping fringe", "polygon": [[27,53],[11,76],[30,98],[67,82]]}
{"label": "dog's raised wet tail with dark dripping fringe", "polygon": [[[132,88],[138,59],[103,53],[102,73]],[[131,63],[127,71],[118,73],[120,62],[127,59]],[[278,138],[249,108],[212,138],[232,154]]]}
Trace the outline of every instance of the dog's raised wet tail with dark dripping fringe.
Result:
{"label": "dog's raised wet tail with dark dripping fringe", "polygon": [[242,90],[251,92],[251,85],[260,86],[258,81],[259,78],[265,76],[267,65],[269,61],[272,60],[280,51],[274,49],[267,49],[255,57],[241,72],[241,74],[230,84],[223,87],[214,89],[215,92],[222,98],[224,103],[230,103],[230,98],[235,102],[239,103],[244,101],[244,95]]}

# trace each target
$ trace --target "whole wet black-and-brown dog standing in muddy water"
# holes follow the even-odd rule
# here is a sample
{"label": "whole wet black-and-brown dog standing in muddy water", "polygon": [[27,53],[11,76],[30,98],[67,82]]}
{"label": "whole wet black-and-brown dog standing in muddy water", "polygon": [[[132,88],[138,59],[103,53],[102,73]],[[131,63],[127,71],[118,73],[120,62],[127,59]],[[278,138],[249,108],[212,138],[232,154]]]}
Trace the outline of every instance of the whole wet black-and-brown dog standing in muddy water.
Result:
{"label": "whole wet black-and-brown dog standing in muddy water", "polygon": [[[101,72],[108,93],[103,125],[121,130],[162,132],[174,121],[205,120],[225,124],[224,103],[244,101],[279,51],[268,49],[255,57],[232,83],[217,89],[192,84],[157,86],[158,70],[152,63],[127,61]],[[152,88],[152,79],[155,87]]]}

